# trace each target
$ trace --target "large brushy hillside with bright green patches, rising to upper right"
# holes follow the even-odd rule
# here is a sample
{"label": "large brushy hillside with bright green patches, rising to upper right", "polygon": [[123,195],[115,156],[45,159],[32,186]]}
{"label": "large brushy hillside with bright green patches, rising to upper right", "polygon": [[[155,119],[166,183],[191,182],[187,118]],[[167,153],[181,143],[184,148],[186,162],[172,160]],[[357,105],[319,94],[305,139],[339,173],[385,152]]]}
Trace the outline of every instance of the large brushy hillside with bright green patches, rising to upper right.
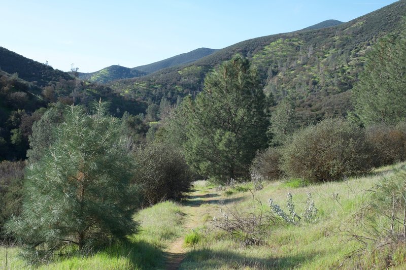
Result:
{"label": "large brushy hillside with bright green patches, rising to upper right", "polygon": [[[264,91],[276,101],[288,93],[301,112],[297,126],[328,116],[345,116],[349,95],[363,70],[364,55],[387,33],[398,33],[406,1],[402,0],[347,23],[243,41],[183,66],[169,67],[139,79],[116,81],[111,87],[133,97],[174,103],[178,96],[195,95],[206,74],[236,53],[258,67]],[[324,100],[325,105],[319,106]]]}

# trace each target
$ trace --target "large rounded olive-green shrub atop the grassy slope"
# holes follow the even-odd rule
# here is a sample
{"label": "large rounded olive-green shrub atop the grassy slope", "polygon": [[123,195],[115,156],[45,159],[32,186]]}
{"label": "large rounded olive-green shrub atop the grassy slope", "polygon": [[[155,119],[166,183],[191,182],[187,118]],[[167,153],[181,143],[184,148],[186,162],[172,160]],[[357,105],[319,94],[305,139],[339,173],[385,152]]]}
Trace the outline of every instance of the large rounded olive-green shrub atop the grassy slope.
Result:
{"label": "large rounded olive-green shrub atop the grassy slope", "polygon": [[281,167],[313,182],[369,171],[364,132],[343,119],[326,119],[296,132],[283,148]]}

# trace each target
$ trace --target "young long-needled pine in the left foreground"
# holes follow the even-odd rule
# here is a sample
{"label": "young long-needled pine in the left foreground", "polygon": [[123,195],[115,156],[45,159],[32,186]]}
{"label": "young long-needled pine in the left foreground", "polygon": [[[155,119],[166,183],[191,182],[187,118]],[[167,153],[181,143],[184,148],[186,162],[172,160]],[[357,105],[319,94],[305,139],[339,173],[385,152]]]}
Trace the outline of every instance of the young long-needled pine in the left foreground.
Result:
{"label": "young long-needled pine in the left foreground", "polygon": [[89,115],[72,106],[55,143],[27,168],[22,214],[7,223],[31,262],[53,259],[66,245],[80,252],[136,231],[132,160],[121,122],[98,103]]}

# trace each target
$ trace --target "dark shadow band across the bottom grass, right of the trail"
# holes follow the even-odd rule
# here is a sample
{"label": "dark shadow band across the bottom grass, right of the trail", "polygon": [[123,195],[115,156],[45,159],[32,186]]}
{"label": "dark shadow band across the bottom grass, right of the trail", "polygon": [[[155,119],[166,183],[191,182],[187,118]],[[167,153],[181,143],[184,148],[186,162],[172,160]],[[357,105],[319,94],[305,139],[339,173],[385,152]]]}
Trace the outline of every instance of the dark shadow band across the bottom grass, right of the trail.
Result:
{"label": "dark shadow band across the bottom grass, right of the trail", "polygon": [[292,269],[320,255],[320,252],[313,252],[283,257],[259,258],[249,255],[244,256],[233,251],[213,251],[205,248],[188,252],[179,269],[240,269],[246,267],[255,269]]}

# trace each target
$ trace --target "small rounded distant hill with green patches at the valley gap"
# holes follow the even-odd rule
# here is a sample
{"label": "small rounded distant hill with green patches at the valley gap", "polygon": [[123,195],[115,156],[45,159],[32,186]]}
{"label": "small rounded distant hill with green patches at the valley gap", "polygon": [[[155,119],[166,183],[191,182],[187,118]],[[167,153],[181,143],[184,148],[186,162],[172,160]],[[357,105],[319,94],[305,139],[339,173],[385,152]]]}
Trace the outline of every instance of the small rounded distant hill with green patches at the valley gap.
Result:
{"label": "small rounded distant hill with green patches at the valley gap", "polygon": [[147,75],[146,72],[120,65],[111,65],[92,73],[78,73],[79,78],[89,82],[106,83],[119,79],[128,79]]}

